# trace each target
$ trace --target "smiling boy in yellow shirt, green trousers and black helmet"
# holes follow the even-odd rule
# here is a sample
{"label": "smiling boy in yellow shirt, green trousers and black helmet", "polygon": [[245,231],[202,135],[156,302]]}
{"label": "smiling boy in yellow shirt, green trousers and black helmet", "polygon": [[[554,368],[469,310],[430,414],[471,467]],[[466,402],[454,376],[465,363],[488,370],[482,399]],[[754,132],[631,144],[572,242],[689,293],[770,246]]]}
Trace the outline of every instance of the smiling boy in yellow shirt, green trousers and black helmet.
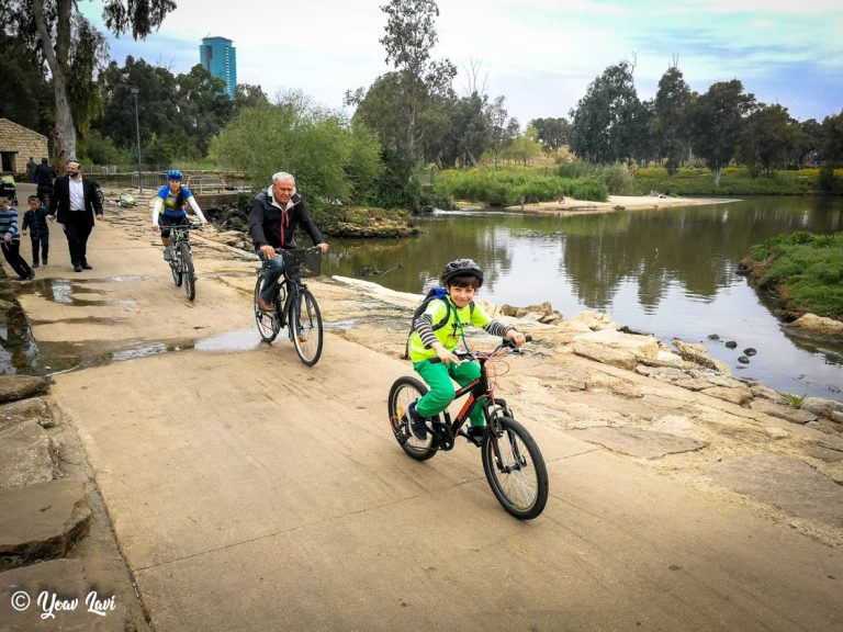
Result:
{"label": "smiling boy in yellow shirt, green trousers and black helmet", "polygon": [[[409,428],[420,441],[427,438],[425,419],[436,417],[453,400],[456,390],[451,380],[464,386],[480,376],[476,362],[460,362],[451,353],[460,340],[468,347],[464,335],[467,325],[482,327],[493,336],[509,338],[518,347],[526,342],[524,334],[515,327],[491,318],[474,304],[474,295],[483,284],[483,271],[473,260],[457,259],[448,263],[441,282],[447,296],[428,303],[413,323],[414,331],[409,338],[413,369],[430,387],[426,395],[408,407]],[[431,362],[437,358],[440,362]],[[469,436],[482,433],[483,424],[483,410],[476,406],[471,411]]]}

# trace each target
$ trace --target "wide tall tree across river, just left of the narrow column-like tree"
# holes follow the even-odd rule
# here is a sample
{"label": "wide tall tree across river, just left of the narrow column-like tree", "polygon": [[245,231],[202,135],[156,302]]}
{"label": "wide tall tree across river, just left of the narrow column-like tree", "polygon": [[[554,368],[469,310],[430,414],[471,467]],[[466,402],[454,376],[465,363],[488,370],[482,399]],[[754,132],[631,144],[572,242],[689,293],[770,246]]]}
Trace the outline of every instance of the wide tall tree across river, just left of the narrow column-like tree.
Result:
{"label": "wide tall tree across river, just left of the narrow column-like tree", "polygon": [[632,81],[633,66],[609,66],[588,86],[571,110],[571,150],[588,162],[608,165],[634,156],[633,124],[640,102]]}

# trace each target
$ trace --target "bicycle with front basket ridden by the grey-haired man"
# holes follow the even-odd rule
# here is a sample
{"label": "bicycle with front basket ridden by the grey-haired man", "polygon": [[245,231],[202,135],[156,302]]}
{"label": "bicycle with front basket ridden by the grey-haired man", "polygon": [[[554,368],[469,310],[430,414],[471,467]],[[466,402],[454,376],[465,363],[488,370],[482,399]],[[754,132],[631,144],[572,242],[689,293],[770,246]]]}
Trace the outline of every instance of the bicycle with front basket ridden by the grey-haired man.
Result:
{"label": "bicycle with front basket ridden by the grey-haired man", "polygon": [[290,340],[295,347],[299,359],[307,366],[313,366],[322,356],[322,314],[316,297],[303,281],[306,276],[318,276],[322,251],[318,248],[285,250],[276,248],[284,258],[284,273],[278,279],[274,312],[263,312],[258,307],[260,286],[263,284],[263,266],[257,269],[255,282],[255,321],[260,337],[272,342],[288,327]]}

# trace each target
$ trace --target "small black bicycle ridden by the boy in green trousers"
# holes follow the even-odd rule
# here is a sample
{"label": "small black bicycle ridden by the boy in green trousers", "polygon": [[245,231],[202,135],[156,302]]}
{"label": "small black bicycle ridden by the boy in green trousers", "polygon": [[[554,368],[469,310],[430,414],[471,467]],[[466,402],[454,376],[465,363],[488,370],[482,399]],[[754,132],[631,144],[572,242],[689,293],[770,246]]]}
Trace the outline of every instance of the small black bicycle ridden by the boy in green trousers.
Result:
{"label": "small black bicycle ridden by the boy in green trousers", "polygon": [[[527,336],[527,340],[531,338]],[[454,399],[468,398],[453,421],[448,410],[427,421],[428,435],[424,441],[411,431],[407,408],[427,393],[427,386],[409,375],[398,377],[390,388],[390,425],[404,452],[417,461],[430,459],[438,450],[451,450],[457,437],[477,445],[486,481],[497,500],[516,518],[530,520],[544,510],[548,501],[548,469],[536,440],[515,420],[506,402],[495,397],[486,361],[504,349],[518,351],[514,342],[504,339],[490,353],[454,352],[460,360],[476,361],[480,377],[457,391]],[[438,358],[431,360],[438,361]],[[461,428],[475,406],[483,409],[486,425],[482,436],[470,437]]]}

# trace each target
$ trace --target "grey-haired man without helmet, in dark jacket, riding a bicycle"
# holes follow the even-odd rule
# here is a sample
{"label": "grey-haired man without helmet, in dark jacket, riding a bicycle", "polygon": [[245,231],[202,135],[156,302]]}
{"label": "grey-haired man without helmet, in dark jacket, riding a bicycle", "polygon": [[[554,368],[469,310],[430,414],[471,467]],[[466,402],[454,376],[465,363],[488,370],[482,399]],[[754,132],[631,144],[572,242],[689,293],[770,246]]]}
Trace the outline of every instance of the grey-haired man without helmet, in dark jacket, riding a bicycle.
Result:
{"label": "grey-haired man without helmet, in dark jacket, riding a bicycle", "polygon": [[323,255],[328,251],[328,245],[307,212],[304,198],[295,190],[295,178],[279,171],[272,176],[272,185],[255,198],[249,214],[249,235],[255,252],[263,261],[263,287],[258,296],[258,307],[265,312],[276,308],[272,303],[276,284],[284,271],[284,259],[276,253],[276,248],[295,248],[293,234],[297,226],[307,232]]}

